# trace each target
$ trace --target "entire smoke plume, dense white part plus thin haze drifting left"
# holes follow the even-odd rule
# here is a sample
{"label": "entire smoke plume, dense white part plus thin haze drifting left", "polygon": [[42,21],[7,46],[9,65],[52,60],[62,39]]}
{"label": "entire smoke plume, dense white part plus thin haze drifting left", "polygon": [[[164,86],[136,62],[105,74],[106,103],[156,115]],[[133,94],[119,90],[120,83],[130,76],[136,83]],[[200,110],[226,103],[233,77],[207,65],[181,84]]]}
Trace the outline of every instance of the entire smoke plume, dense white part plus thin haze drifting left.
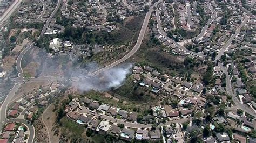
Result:
{"label": "entire smoke plume, dense white part plus thin haze drifting left", "polygon": [[[131,63],[122,63],[109,70],[105,70],[99,75],[90,76],[91,73],[102,68],[96,62],[87,62],[82,65],[80,63],[74,64],[76,60],[71,61],[69,55],[52,57],[43,49],[36,48],[24,56],[26,56],[26,59],[29,59],[26,60],[28,62],[26,65],[31,65],[30,63],[37,63],[39,65],[36,68],[36,75],[38,77],[65,77],[74,88],[78,88],[81,91],[92,89],[106,91],[112,87],[119,87],[124,82],[127,74],[131,73],[132,68]],[[24,68],[31,69],[29,66]]]}

